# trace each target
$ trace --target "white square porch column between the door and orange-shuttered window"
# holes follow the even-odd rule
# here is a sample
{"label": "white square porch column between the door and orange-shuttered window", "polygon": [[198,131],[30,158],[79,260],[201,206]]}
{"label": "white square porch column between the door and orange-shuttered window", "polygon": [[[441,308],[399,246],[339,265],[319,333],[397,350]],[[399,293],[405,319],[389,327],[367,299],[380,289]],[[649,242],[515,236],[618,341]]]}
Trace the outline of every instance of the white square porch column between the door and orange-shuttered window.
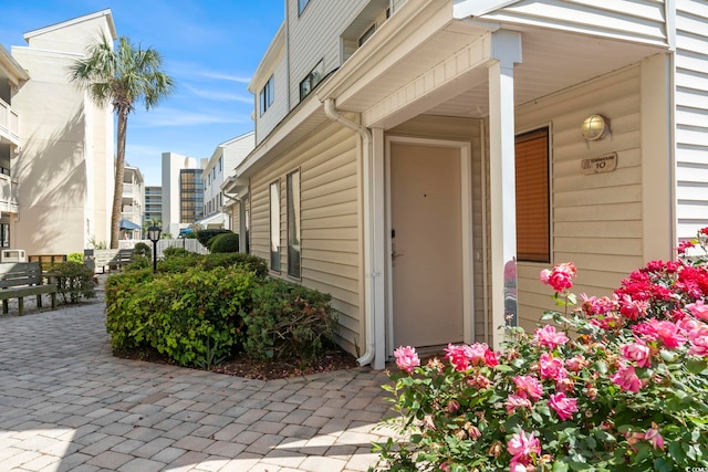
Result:
{"label": "white square porch column between the door and orange-shuttered window", "polygon": [[517,260],[513,66],[521,62],[521,34],[494,32],[491,48],[494,61],[489,65],[490,306],[493,346],[499,348],[503,335],[498,328],[508,317],[517,321],[516,268],[504,271],[504,266],[516,265]]}

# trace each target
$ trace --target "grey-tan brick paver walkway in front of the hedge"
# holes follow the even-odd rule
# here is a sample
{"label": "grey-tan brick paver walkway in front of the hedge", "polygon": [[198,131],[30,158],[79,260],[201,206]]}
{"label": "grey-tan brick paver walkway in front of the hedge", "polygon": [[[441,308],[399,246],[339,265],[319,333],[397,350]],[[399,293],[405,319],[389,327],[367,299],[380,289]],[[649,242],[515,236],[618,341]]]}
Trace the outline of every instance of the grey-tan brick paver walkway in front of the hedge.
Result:
{"label": "grey-tan brick paver walkway in front of the hedge", "polygon": [[0,316],[0,470],[366,471],[368,368],[248,380],[111,355],[104,304]]}

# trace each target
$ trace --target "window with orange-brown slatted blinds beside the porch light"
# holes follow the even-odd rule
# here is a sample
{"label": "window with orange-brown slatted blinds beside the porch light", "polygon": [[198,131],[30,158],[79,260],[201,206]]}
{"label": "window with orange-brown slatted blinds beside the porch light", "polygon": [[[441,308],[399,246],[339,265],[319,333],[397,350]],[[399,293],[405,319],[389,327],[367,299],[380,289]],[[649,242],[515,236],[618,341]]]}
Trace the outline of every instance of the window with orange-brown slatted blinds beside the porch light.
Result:
{"label": "window with orange-brown slatted blinds beside the porch light", "polygon": [[551,262],[549,129],[517,136],[517,258]]}

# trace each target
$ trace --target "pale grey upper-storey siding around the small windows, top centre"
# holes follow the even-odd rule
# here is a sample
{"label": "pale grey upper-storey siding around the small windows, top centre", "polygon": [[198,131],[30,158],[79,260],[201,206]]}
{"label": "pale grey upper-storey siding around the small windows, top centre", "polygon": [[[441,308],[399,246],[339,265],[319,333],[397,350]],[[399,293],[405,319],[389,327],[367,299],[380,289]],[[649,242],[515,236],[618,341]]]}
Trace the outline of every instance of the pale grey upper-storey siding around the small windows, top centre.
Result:
{"label": "pale grey upper-storey siding around the small windows, top centre", "polygon": [[321,60],[324,60],[324,75],[342,65],[340,35],[366,3],[347,0],[332,8],[329,1],[311,0],[302,15],[298,15],[298,2],[288,1],[290,109],[300,103],[300,82]]}

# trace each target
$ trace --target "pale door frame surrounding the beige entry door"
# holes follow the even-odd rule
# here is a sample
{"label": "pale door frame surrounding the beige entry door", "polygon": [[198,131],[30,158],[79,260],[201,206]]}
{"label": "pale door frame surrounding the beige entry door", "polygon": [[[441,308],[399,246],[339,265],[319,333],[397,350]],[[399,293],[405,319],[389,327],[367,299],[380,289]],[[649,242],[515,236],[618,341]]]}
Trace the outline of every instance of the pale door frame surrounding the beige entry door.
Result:
{"label": "pale door frame surrounding the beige entry door", "polygon": [[473,264],[472,248],[472,153],[471,144],[449,139],[414,138],[406,136],[386,136],[386,354],[393,355],[394,346],[394,291],[393,291],[393,261],[392,254],[392,211],[391,211],[391,146],[392,144],[413,144],[428,147],[447,147],[460,150],[460,198],[461,198],[461,228],[462,228],[462,328],[465,343],[471,343],[475,338],[475,307],[473,298]]}

